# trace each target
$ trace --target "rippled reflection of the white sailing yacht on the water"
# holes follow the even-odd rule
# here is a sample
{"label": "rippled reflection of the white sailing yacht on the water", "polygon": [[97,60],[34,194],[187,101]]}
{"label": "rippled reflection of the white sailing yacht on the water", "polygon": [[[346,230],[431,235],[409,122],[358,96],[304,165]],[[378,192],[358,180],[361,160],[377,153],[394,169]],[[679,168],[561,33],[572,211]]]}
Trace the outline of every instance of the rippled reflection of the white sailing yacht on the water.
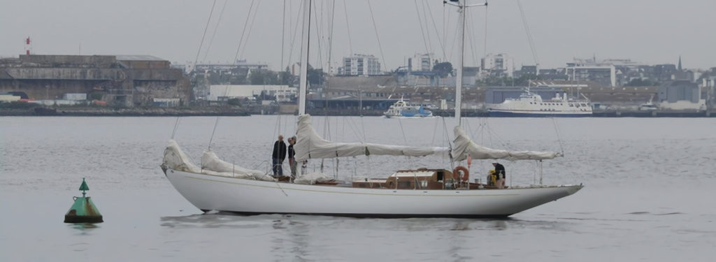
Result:
{"label": "rippled reflection of the white sailing yacht on the water", "polygon": [[[570,227],[575,227],[558,219],[344,218],[231,213],[165,216],[160,223],[175,233],[195,234],[198,229],[200,236],[231,240],[238,246],[250,245],[252,251],[266,252],[262,256],[276,261],[342,260],[350,253],[364,256],[366,252],[377,254],[392,252],[392,249],[410,250],[411,254],[437,261],[473,261],[483,249],[470,240],[515,236],[525,231],[570,231]],[[351,247],[352,243],[361,243],[362,247]],[[415,248],[431,243],[440,244]],[[376,255],[376,260],[381,257]]]}

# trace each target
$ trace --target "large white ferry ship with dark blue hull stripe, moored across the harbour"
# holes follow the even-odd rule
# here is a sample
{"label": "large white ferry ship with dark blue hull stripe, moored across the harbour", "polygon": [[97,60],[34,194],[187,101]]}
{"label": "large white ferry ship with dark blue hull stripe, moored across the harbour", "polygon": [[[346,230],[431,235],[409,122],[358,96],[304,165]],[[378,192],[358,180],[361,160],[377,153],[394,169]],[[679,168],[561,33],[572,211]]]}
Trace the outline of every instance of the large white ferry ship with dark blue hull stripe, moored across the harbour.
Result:
{"label": "large white ferry ship with dark blue hull stripe, moored across the harbour", "polygon": [[488,104],[490,117],[591,117],[589,100],[568,100],[556,96],[542,100],[539,94],[527,92],[517,99],[507,99],[500,104]]}

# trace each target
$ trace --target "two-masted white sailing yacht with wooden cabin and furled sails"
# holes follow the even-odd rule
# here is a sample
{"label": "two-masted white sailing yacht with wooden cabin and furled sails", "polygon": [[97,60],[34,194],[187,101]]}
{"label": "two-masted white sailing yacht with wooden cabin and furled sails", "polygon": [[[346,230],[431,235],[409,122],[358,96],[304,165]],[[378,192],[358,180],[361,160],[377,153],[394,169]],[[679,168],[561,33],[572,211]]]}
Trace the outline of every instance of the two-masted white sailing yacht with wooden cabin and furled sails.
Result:
{"label": "two-masted white sailing yacht with wooden cabin and furled sails", "polygon": [[[304,1],[301,61],[307,62],[310,1]],[[465,24],[464,1],[459,1],[460,26]],[[463,31],[460,30],[460,35]],[[460,54],[463,53],[460,37]],[[461,86],[462,58],[458,63]],[[305,114],[306,68],[301,68],[299,117],[296,131],[296,161],[357,155],[405,155],[422,157],[450,152],[453,160],[504,159],[548,160],[557,152],[495,150],[475,144],[460,125],[455,127],[453,148],[408,147],[364,142],[332,142],[320,137]],[[460,88],[457,88],[460,119]],[[459,121],[458,121],[459,122]],[[323,180],[304,174],[291,181],[278,181],[258,170],[225,162],[211,151],[204,153],[201,166],[189,161],[171,140],[161,165],[170,183],[190,203],[203,211],[219,210],[242,215],[266,213],[337,215],[370,218],[505,218],[529,208],[572,195],[582,185],[531,185],[498,189],[471,183],[468,168],[409,168],[397,170],[385,179],[349,183]]]}

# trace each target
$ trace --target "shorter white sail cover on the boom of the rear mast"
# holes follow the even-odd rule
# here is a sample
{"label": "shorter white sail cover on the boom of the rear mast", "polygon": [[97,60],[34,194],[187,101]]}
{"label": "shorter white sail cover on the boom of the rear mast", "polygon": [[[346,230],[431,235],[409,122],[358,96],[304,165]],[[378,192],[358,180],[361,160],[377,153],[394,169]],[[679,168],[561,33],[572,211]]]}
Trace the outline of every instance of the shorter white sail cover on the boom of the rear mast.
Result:
{"label": "shorter white sail cover on the boom of the rear mast", "polygon": [[461,161],[473,159],[504,159],[504,160],[545,160],[561,156],[551,151],[510,151],[498,150],[475,144],[462,127],[455,127],[455,140],[453,141],[453,160]]}

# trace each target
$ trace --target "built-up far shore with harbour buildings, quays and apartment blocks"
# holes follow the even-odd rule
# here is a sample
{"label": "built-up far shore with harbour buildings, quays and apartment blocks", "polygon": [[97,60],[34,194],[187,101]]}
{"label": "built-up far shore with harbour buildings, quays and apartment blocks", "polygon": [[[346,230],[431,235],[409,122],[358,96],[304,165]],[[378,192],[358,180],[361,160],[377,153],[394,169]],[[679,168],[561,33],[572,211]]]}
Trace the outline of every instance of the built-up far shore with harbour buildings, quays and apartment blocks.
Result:
{"label": "built-up far shore with harbour buildings, quays and apartment blocks", "polygon": [[[188,69],[150,55],[22,54],[0,59],[0,116],[295,115],[298,79],[294,67],[272,72],[265,64],[242,60]],[[529,68],[523,67],[512,77],[498,78],[468,67],[463,77],[462,114],[489,117],[496,105],[530,93],[546,101],[529,103],[544,107],[533,110],[543,110],[541,116],[546,117],[558,116],[549,111],[561,103],[554,100],[585,100],[590,117],[713,115],[710,75],[716,72],[696,77],[680,67],[654,68],[661,71],[650,79],[658,82],[620,80],[615,72],[627,69],[619,67],[609,72],[611,82],[602,81],[609,79],[604,78],[604,70],[580,72],[584,79],[564,79],[547,69],[531,76]],[[455,112],[455,77],[449,70],[408,67],[359,75],[311,70],[314,77],[309,77],[306,96],[311,115],[382,116],[399,100],[425,108],[433,116]]]}

